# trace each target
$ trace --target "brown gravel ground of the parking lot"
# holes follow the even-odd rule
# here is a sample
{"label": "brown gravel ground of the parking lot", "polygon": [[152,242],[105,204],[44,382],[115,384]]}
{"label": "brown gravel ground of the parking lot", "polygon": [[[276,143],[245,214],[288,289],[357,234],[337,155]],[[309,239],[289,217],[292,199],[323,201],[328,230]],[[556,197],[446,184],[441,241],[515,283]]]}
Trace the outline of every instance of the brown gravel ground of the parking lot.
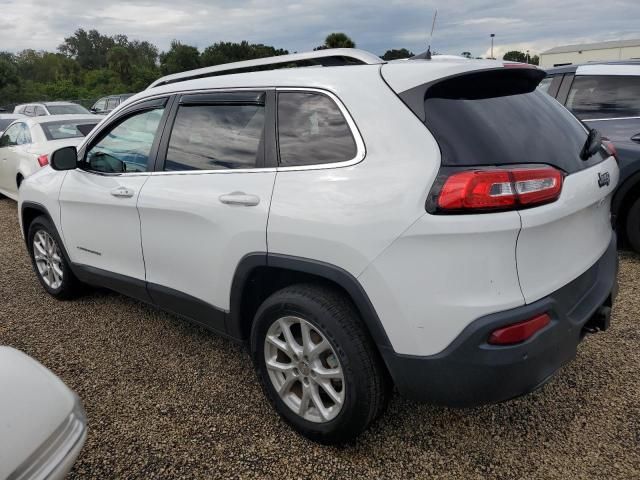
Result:
{"label": "brown gravel ground of the parking lot", "polygon": [[543,389],[470,410],[396,395],[333,448],[279,420],[241,347],[115,293],[47,296],[16,215],[0,200],[0,343],[82,398],[89,435],[71,478],[640,479],[639,256],[621,254],[611,330]]}

